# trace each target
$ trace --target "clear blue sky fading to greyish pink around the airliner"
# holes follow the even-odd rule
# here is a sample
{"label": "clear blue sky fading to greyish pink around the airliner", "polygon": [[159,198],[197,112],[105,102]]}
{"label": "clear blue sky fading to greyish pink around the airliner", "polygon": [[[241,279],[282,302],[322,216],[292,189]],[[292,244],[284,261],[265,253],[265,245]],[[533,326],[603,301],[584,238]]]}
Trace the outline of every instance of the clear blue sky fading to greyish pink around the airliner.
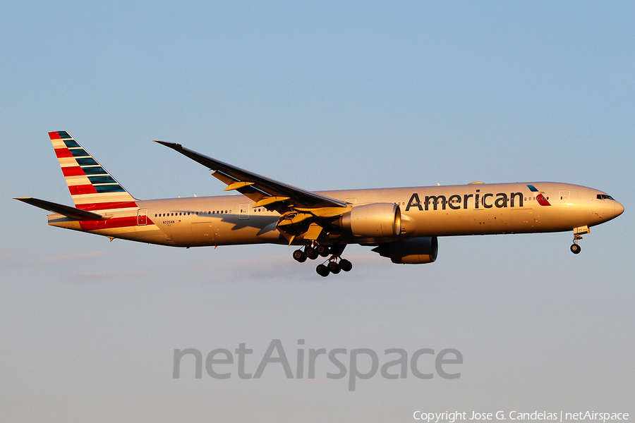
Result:
{"label": "clear blue sky fading to greyish pink around the airliner", "polygon": [[[3,4],[4,421],[406,421],[415,410],[635,412],[635,7],[629,2]],[[624,204],[571,233],[179,250],[47,227],[71,204],[47,132],[135,197],[221,195],[152,139],[308,190],[554,180]],[[171,378],[175,348],[457,348],[461,378]],[[332,371],[327,369],[326,371]],[[268,371],[267,371],[268,372]]]}

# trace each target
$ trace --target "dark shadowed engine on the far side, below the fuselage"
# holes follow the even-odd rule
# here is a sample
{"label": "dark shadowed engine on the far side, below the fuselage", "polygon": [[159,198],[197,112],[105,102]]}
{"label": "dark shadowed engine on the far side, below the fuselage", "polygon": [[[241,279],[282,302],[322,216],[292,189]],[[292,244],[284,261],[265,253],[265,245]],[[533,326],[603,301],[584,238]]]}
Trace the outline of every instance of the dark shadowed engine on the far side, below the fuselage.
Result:
{"label": "dark shadowed engine on the far side, below the fuselage", "polygon": [[382,257],[397,264],[425,264],[437,259],[439,242],[437,237],[419,237],[394,243],[380,244],[373,248]]}

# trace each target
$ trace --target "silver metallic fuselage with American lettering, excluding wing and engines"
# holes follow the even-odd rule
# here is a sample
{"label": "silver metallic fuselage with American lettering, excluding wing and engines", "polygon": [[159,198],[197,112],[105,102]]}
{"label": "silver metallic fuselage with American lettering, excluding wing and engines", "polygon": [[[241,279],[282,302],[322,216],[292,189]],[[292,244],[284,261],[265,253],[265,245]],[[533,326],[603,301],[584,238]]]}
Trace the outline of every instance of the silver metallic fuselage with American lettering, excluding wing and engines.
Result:
{"label": "silver metallic fuselage with American lettering, excluding wing and engines", "polygon": [[[532,191],[535,186],[539,192]],[[388,202],[401,209],[401,234],[417,236],[488,235],[571,231],[594,226],[624,211],[605,192],[566,183],[499,183],[412,188],[322,191],[318,194],[352,204]],[[536,200],[543,195],[543,201]],[[546,201],[545,201],[546,200]],[[544,203],[548,203],[545,205]],[[542,204],[541,204],[542,203]],[[87,228],[59,214],[49,224],[144,243],[194,247],[288,243],[276,229],[277,212],[252,207],[243,195],[138,200],[137,209],[111,216],[137,216],[137,226]],[[334,243],[378,243],[382,239],[338,237]],[[303,244],[298,237],[294,244]]]}

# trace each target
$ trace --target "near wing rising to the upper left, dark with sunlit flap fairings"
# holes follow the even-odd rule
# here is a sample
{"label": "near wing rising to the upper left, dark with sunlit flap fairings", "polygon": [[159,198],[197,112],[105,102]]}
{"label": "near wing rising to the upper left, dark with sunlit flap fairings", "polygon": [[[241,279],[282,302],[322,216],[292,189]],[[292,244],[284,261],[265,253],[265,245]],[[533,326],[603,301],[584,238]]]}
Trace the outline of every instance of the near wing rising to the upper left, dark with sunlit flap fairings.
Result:
{"label": "near wing rising to the upper left, dark with sunlit flap fairings", "polygon": [[346,208],[346,202],[344,201],[325,197],[315,192],[296,188],[286,183],[260,176],[257,173],[231,166],[231,164],[212,159],[212,157],[197,153],[176,142],[154,141],[166,147],[170,147],[194,161],[198,161],[198,163],[203,166],[207,166],[207,168],[210,168],[210,171],[214,171],[212,176],[226,183],[226,191],[237,190],[241,192],[241,194],[256,202],[253,207],[279,209],[279,207],[284,204],[285,208],[288,206],[303,209],[317,209],[321,207]]}

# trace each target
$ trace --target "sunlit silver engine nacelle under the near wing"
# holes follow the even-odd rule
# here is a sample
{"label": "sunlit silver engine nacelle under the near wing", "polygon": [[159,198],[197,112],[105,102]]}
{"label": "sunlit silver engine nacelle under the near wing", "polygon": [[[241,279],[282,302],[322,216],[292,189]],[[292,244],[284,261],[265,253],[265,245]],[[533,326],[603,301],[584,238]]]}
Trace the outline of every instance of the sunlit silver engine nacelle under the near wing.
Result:
{"label": "sunlit silver engine nacelle under the near wing", "polygon": [[394,203],[360,204],[341,215],[339,226],[353,235],[397,236],[401,233],[401,209]]}

